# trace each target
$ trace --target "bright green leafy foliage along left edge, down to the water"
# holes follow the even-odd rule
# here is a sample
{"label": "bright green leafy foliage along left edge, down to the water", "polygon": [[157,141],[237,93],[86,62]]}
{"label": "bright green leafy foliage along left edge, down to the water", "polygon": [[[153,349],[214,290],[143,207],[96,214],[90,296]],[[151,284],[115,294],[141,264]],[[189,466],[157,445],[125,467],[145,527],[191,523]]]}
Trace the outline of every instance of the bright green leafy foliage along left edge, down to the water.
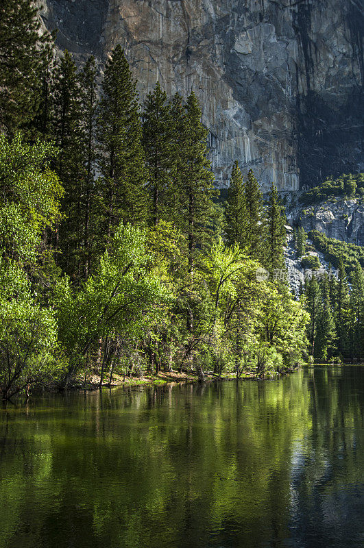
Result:
{"label": "bright green leafy foliage along left edge, down to the water", "polygon": [[[57,329],[44,303],[43,235],[59,216],[62,188],[49,170],[56,150],[0,136],[0,386],[3,399],[55,377]],[[40,283],[39,283],[40,282]]]}

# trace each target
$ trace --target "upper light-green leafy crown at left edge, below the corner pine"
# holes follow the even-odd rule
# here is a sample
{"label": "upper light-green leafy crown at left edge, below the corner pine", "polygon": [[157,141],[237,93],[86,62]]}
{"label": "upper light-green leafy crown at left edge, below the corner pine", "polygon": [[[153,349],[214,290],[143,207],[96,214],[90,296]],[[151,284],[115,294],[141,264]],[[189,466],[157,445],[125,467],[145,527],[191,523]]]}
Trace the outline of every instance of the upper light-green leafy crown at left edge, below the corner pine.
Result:
{"label": "upper light-green leafy crown at left edge, below the corner pine", "polygon": [[62,187],[49,169],[54,147],[43,142],[23,144],[17,135],[0,135],[1,255],[34,263],[41,236],[59,218]]}

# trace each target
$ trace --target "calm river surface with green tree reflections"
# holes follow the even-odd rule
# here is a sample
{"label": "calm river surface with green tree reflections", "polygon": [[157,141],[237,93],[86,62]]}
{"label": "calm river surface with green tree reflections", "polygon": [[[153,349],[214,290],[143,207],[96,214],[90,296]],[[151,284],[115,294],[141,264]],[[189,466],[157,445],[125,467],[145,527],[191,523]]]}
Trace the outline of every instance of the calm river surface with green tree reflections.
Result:
{"label": "calm river surface with green tree reflections", "polygon": [[0,410],[0,547],[363,547],[364,366]]}

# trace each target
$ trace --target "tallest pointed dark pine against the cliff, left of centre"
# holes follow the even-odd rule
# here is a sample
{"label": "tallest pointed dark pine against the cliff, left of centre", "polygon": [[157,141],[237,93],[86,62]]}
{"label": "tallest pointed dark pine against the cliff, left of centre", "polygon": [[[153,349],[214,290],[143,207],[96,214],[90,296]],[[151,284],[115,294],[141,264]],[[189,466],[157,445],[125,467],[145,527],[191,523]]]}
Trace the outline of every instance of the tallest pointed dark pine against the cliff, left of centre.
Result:
{"label": "tallest pointed dark pine against the cliff, left of centre", "polygon": [[147,171],[136,82],[120,45],[106,63],[98,116],[101,177],[98,182],[100,238],[110,238],[121,221],[147,219]]}

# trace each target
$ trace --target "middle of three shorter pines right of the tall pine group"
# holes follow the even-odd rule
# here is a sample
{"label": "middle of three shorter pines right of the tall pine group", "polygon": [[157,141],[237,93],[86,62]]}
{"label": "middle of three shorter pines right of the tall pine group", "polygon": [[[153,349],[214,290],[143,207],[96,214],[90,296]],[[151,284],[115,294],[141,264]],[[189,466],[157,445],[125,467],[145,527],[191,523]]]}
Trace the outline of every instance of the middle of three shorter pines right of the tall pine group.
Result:
{"label": "middle of three shorter pines right of the tall pine group", "polygon": [[247,226],[245,241],[254,258],[262,258],[263,226],[263,194],[252,169],[247,174],[244,184],[244,201]]}

